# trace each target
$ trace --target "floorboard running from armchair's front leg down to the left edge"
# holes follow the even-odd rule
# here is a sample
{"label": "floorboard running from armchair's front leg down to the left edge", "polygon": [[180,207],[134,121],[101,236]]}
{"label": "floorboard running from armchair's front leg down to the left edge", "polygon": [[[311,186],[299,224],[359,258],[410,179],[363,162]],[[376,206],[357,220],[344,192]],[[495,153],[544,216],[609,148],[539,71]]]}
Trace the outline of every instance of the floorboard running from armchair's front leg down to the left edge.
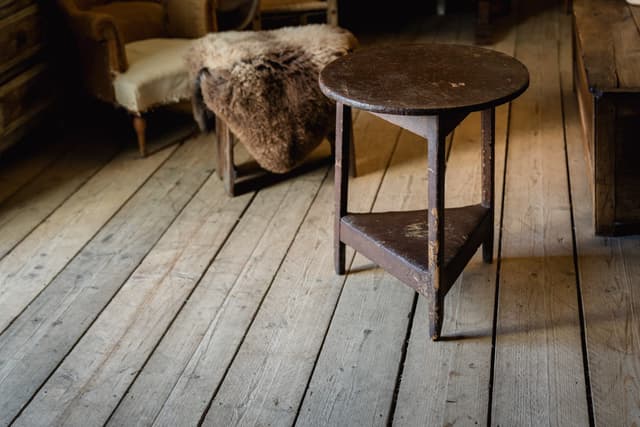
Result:
{"label": "floorboard running from armchair's front leg down to the left edge", "polygon": [[73,259],[149,176],[170,147],[140,159],[116,157],[0,261],[0,331]]}

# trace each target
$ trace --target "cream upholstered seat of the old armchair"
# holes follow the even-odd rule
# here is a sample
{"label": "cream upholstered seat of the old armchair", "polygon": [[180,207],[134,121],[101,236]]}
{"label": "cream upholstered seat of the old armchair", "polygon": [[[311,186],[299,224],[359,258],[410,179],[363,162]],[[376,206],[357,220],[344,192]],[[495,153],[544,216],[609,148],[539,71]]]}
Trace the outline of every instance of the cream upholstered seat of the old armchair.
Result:
{"label": "cream upholstered seat of the old armchair", "polygon": [[125,45],[129,69],[113,82],[116,103],[131,112],[189,99],[184,55],[191,39],[149,39]]}

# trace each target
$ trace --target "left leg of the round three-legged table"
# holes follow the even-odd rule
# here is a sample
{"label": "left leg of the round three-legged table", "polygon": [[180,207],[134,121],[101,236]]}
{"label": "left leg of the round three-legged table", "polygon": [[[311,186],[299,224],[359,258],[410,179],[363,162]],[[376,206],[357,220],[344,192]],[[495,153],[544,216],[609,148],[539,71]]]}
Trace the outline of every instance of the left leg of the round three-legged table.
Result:
{"label": "left leg of the round three-legged table", "polygon": [[335,141],[335,268],[337,274],[345,273],[345,244],[340,240],[340,222],[347,214],[349,195],[349,148],[351,147],[351,107],[336,105]]}

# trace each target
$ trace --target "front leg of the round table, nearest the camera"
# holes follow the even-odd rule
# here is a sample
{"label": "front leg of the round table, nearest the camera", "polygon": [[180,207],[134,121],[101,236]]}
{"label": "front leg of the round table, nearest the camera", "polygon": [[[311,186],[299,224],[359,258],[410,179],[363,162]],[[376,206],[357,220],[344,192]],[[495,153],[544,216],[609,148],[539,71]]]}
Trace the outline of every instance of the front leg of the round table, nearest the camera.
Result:
{"label": "front leg of the round table, nearest the camera", "polygon": [[440,116],[430,116],[428,140],[428,222],[429,272],[433,298],[429,308],[429,334],[434,341],[440,338],[444,319],[444,173],[445,138],[440,129]]}

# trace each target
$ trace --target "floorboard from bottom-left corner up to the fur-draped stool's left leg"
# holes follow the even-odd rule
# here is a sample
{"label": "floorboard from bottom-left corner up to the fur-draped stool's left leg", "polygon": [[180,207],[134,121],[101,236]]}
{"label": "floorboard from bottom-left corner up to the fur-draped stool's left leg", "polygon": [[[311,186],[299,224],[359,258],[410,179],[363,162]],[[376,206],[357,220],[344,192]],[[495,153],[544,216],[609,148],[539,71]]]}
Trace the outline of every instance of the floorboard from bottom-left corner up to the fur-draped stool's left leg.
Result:
{"label": "floorboard from bottom-left corner up to the fur-draped stool's left leg", "polygon": [[[0,425],[15,417],[212,172],[212,145],[180,147],[0,335]],[[145,164],[138,161],[130,169]],[[6,258],[5,258],[6,259]]]}

